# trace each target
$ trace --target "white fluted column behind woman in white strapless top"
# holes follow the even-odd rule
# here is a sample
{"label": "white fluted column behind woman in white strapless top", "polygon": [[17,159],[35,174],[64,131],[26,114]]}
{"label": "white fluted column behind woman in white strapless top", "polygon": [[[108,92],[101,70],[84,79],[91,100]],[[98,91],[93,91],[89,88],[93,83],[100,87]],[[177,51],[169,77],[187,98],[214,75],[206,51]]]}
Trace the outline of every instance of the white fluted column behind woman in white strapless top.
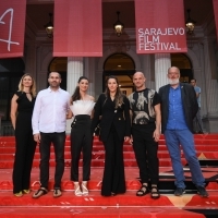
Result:
{"label": "white fluted column behind woman in white strapless top", "polygon": [[[66,90],[70,95],[73,95],[77,81],[83,75],[83,57],[68,58]],[[71,132],[71,122],[72,119],[66,121],[66,134]]]}

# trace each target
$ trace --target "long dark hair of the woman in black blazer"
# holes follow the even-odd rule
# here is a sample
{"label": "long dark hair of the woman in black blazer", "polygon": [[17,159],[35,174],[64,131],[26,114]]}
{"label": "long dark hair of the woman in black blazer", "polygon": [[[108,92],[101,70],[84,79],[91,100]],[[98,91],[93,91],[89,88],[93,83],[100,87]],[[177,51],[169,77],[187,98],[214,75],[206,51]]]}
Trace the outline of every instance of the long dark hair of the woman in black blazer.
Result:
{"label": "long dark hair of the woman in black blazer", "polygon": [[116,82],[118,84],[118,88],[117,88],[116,96],[114,96],[116,108],[118,108],[119,106],[121,106],[123,104],[123,94],[120,90],[118,78],[113,75],[108,76],[106,80],[106,90],[105,90],[106,99],[110,97],[110,89],[108,88],[108,81],[110,78],[116,80]]}

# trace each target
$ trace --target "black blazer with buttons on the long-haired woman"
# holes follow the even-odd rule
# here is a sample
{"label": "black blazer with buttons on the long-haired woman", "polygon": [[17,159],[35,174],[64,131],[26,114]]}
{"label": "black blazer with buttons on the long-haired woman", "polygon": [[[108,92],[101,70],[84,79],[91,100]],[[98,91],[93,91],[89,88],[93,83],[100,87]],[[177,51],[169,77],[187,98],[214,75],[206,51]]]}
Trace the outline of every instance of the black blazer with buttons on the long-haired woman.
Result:
{"label": "black blazer with buttons on the long-haired woman", "polygon": [[[100,118],[100,120],[99,120]],[[92,122],[92,132],[100,121],[100,140],[107,141],[111,125],[113,124],[119,140],[123,141],[124,136],[131,136],[130,102],[123,96],[123,104],[116,108],[114,101],[110,97],[101,94],[94,108],[94,118]]]}

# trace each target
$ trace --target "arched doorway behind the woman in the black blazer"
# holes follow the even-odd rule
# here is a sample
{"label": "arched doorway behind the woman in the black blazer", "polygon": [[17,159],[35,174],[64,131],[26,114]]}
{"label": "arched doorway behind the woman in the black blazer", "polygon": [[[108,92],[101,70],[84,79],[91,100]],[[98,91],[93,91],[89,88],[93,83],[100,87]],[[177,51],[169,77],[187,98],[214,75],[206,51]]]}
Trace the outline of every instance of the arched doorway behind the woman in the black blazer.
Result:
{"label": "arched doorway behind the woman in the black blazer", "polygon": [[135,63],[133,59],[125,53],[113,53],[104,63],[102,90],[105,90],[105,81],[107,76],[118,77],[120,88],[125,95],[133,92],[132,76],[135,73]]}

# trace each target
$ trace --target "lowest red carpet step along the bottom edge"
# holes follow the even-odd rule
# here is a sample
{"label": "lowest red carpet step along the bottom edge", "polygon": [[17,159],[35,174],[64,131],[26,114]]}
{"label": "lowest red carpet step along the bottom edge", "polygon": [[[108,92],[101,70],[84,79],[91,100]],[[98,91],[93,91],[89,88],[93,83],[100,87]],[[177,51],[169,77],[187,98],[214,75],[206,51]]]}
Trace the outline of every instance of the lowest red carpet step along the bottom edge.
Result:
{"label": "lowest red carpet step along the bottom edge", "polygon": [[162,207],[1,207],[1,218],[205,218],[197,211]]}

